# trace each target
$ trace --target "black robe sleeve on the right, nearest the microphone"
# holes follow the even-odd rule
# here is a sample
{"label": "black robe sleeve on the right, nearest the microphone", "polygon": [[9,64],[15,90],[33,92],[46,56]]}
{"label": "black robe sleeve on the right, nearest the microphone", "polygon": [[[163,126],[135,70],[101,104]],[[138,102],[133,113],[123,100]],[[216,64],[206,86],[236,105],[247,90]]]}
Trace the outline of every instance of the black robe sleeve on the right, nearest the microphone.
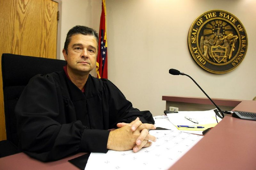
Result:
{"label": "black robe sleeve on the right, nearest the microphone", "polygon": [[140,118],[142,123],[155,124],[154,118],[149,111],[140,111],[132,107],[132,103],[128,101],[124,94],[107,79],[103,79],[106,83],[106,89],[109,92],[109,120],[113,128],[120,122],[130,123],[137,117]]}

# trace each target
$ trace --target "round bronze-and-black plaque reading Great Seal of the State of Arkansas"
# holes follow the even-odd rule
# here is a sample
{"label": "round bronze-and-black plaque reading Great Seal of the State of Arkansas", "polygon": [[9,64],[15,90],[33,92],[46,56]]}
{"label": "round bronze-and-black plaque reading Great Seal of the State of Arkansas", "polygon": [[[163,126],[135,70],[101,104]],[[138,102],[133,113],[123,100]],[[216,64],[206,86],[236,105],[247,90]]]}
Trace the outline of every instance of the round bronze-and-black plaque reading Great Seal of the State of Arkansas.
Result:
{"label": "round bronze-and-black plaque reading Great Seal of the State of Arkansas", "polygon": [[196,63],[211,73],[228,73],[244,59],[247,35],[242,23],[231,13],[205,12],[189,29],[188,48]]}

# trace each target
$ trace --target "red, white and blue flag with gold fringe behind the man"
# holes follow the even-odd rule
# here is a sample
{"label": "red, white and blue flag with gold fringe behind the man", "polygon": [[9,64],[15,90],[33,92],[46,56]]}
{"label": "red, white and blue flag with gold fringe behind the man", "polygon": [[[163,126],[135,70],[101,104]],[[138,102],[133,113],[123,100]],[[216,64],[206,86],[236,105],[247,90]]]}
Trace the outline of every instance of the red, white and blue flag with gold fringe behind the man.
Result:
{"label": "red, white and blue flag with gold fringe behind the man", "polygon": [[107,32],[106,32],[106,4],[102,0],[102,10],[100,16],[99,50],[96,62],[96,72],[98,78],[108,78],[108,52],[107,52]]}

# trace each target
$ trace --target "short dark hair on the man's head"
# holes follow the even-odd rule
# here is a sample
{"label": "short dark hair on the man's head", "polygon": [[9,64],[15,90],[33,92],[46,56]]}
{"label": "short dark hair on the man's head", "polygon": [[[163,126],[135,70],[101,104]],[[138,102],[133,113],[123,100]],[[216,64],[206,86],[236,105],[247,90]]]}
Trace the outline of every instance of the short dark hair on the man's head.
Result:
{"label": "short dark hair on the man's head", "polygon": [[77,25],[77,26],[71,28],[68,31],[68,34],[67,34],[67,37],[66,37],[66,41],[65,41],[65,44],[64,44],[64,49],[66,50],[66,54],[68,54],[68,44],[71,41],[71,37],[73,35],[77,35],[77,34],[92,35],[92,36],[94,36],[96,41],[97,41],[97,47],[98,47],[98,44],[99,44],[99,35],[98,35],[98,33],[94,29],[92,29],[92,28]]}

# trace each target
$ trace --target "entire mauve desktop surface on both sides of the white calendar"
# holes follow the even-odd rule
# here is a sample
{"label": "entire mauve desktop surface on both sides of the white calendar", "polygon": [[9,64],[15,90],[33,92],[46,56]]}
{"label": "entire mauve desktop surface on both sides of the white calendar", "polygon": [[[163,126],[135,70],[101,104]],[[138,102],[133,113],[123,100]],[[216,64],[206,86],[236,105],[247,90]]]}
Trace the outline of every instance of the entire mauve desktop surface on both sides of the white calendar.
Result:
{"label": "entire mauve desktop surface on both sides of the white calendar", "polygon": [[[233,110],[256,112],[256,101],[240,101]],[[226,116],[171,166],[170,170],[256,169],[255,129],[256,121]],[[59,161],[43,163],[24,153],[18,153],[0,158],[0,169],[78,169],[68,160],[83,154],[79,153]]]}

